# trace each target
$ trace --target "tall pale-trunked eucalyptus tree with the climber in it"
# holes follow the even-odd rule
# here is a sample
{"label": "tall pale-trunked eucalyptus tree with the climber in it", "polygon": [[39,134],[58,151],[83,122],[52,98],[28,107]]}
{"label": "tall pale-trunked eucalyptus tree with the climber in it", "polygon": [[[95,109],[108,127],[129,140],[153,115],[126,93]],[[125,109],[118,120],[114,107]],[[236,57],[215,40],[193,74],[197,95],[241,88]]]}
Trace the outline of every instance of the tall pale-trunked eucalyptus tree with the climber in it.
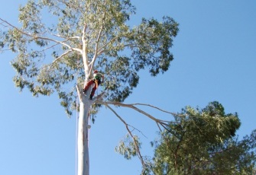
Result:
{"label": "tall pale-trunked eucalyptus tree with the climber in it", "polygon": [[[147,68],[152,76],[170,67],[170,48],[177,36],[178,24],[173,18],[141,19],[129,26],[135,7],[129,0],[28,0],[20,6],[14,25],[0,18],[1,51],[16,53],[11,61],[17,74],[13,78],[21,90],[26,87],[34,96],[54,92],[71,116],[79,97],[78,173],[89,174],[88,119],[105,105],[141,110],[134,104],[124,104],[139,83],[138,72]],[[82,93],[83,83],[93,70],[104,72],[105,91],[89,100],[89,91]],[[142,113],[160,126],[167,122]],[[133,154],[139,152],[138,138],[132,135]],[[130,151],[131,153],[132,151]]]}

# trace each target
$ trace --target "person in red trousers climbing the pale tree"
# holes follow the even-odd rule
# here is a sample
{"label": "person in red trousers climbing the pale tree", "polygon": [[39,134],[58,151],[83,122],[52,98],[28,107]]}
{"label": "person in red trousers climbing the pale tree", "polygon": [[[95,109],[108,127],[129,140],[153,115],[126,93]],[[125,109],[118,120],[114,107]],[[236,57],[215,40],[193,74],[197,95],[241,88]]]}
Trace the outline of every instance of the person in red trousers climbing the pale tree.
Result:
{"label": "person in red trousers climbing the pale tree", "polygon": [[89,99],[92,100],[93,95],[95,94],[96,89],[98,88],[99,84],[104,82],[104,75],[97,70],[94,71],[93,78],[90,79],[86,86],[83,88],[83,93],[86,94],[86,91],[89,89],[89,86],[92,84],[95,84],[94,87],[92,87],[91,94],[89,95]]}

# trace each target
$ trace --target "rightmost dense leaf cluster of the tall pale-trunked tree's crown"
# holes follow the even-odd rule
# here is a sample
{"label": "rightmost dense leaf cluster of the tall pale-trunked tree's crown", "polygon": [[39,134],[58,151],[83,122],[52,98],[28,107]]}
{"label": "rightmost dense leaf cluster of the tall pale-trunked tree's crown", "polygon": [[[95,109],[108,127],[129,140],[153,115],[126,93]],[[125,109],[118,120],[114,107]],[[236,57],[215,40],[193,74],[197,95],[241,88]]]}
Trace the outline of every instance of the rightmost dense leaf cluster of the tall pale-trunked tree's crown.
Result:
{"label": "rightmost dense leaf cluster of the tall pale-trunked tree's crown", "polygon": [[131,40],[138,45],[132,49],[134,68],[139,70],[148,67],[153,76],[166,72],[173,60],[169,49],[173,37],[177,35],[178,24],[169,17],[164,17],[161,23],[154,18],[142,19],[141,25],[133,32]]}

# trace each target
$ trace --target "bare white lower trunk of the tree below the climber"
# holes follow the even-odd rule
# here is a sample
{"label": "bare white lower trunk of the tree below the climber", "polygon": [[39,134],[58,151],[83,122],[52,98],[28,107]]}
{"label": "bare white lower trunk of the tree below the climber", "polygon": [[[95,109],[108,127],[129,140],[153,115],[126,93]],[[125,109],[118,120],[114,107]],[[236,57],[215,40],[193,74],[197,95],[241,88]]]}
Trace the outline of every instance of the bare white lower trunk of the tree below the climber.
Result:
{"label": "bare white lower trunk of the tree below the climber", "polygon": [[77,175],[89,175],[89,107],[90,101],[81,92],[79,97],[79,120],[77,134]]}

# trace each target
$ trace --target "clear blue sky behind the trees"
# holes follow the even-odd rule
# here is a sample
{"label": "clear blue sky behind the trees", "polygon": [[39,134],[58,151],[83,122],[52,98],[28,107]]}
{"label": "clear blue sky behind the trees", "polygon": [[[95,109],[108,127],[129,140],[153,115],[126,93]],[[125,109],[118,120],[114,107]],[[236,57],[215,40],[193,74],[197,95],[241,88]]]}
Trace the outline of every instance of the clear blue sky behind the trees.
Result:
{"label": "clear blue sky behind the trees", "polygon": [[[18,5],[2,3],[0,17],[17,24]],[[140,84],[125,103],[151,103],[179,112],[182,107],[205,107],[218,100],[226,113],[238,112],[240,137],[256,129],[256,2],[254,0],[133,0],[142,17],[173,17],[180,24],[174,40],[174,61],[170,70],[157,78],[141,72]],[[71,175],[76,165],[76,115],[67,118],[56,95],[34,98],[19,93],[12,82],[15,75],[9,62],[15,55],[0,55],[0,174]],[[153,115],[159,115],[155,111]],[[142,154],[151,156],[149,142],[157,137],[150,119],[130,110],[118,109],[129,124],[140,129]],[[141,164],[115,153],[115,146],[127,133],[109,110],[102,108],[89,140],[92,175],[135,175]],[[139,133],[138,133],[139,135]]]}

